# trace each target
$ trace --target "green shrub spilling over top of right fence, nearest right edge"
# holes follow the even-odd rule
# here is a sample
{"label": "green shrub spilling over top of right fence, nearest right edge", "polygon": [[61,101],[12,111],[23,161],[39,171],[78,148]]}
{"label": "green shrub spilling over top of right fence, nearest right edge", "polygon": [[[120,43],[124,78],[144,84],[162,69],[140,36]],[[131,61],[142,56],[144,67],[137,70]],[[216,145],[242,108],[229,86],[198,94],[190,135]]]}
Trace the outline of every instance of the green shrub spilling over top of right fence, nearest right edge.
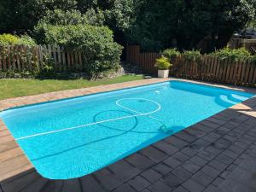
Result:
{"label": "green shrub spilling over top of right fence, nearest right edge", "polygon": [[226,47],[224,49],[218,49],[212,53],[212,55],[217,55],[220,59],[230,59],[232,61],[237,61],[239,59],[245,59],[250,57],[250,52],[245,48],[230,49]]}

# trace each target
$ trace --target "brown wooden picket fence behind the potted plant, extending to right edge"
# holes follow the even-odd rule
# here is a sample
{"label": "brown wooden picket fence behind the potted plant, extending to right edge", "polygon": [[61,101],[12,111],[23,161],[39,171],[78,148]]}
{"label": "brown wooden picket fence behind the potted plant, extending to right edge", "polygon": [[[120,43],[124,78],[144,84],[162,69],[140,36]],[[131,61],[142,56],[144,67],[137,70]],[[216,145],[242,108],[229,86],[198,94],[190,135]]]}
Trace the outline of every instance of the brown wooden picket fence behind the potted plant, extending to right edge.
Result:
{"label": "brown wooden picket fence behind the potted plant, extending to right edge", "polygon": [[[141,53],[139,46],[128,46],[126,59],[136,63],[146,73],[157,73],[154,62],[158,53]],[[183,79],[195,79],[224,84],[256,86],[256,63],[245,61],[221,60],[217,56],[202,55],[198,62],[184,61],[183,57],[174,61],[171,75]]]}

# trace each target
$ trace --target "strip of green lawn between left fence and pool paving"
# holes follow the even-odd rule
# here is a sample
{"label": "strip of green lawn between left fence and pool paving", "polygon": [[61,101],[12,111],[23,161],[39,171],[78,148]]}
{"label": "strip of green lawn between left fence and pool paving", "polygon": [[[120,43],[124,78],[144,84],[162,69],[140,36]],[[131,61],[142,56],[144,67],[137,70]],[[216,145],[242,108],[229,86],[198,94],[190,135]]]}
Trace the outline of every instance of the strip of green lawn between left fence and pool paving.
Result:
{"label": "strip of green lawn between left fence and pool paving", "polygon": [[143,76],[124,75],[115,79],[100,79],[95,81],[85,79],[0,79],[0,100],[17,96],[32,96],[57,90],[73,90],[100,84],[115,84],[139,79],[143,79]]}

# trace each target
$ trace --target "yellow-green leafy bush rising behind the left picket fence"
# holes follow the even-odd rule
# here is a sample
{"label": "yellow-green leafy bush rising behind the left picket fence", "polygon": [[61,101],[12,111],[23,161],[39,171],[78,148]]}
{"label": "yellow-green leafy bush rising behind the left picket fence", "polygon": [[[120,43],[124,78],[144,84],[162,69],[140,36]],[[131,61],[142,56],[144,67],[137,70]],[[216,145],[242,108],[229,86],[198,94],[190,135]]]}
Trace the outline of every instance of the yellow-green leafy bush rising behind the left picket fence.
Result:
{"label": "yellow-green leafy bush rising behind the left picket fence", "polygon": [[23,35],[21,37],[12,34],[2,34],[0,35],[0,45],[9,44],[23,44],[23,45],[36,45],[35,41],[28,35]]}

